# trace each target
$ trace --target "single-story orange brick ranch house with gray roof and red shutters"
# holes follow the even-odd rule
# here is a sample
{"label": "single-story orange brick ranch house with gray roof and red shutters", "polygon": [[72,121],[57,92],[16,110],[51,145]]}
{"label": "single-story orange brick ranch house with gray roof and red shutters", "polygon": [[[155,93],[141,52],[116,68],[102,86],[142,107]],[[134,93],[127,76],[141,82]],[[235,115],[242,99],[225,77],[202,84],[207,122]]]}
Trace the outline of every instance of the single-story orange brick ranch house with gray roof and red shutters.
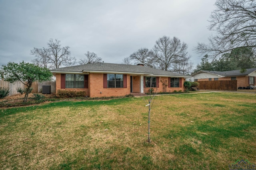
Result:
{"label": "single-story orange brick ranch house with gray roof and red shutters", "polygon": [[154,91],[184,91],[184,79],[190,76],[140,65],[91,63],[51,70],[58,90],[83,90],[89,97],[125,96],[147,93],[150,81]]}

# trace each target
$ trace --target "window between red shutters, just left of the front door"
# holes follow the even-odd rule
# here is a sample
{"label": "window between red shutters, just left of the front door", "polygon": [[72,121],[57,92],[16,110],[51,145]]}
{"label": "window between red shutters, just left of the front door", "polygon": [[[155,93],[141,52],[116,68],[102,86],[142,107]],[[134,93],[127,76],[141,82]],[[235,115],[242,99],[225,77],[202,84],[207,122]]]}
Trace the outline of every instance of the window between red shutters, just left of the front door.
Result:
{"label": "window between red shutters, just left of the front door", "polygon": [[123,74],[108,74],[107,82],[108,88],[123,88]]}

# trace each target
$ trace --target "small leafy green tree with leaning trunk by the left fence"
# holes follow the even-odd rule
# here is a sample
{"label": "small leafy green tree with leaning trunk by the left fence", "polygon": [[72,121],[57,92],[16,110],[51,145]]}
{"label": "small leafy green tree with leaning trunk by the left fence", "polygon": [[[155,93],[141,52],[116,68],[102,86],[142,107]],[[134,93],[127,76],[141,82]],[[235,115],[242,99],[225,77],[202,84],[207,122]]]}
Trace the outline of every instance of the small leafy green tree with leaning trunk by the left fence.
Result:
{"label": "small leafy green tree with leaning trunk by the left fence", "polygon": [[9,62],[2,67],[5,73],[5,81],[10,83],[20,81],[26,85],[26,94],[23,102],[27,101],[28,94],[33,82],[49,81],[52,77],[52,73],[48,68],[41,68],[31,63],[25,63],[24,61],[20,62],[19,64]]}

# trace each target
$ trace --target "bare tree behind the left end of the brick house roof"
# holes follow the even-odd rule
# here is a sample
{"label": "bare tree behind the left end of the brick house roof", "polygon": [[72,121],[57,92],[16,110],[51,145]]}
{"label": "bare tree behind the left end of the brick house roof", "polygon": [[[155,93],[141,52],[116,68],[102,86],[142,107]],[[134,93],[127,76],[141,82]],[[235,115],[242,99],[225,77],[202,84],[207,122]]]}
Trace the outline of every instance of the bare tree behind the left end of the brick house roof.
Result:
{"label": "bare tree behind the left end of the brick house roof", "polygon": [[48,48],[35,48],[30,54],[35,55],[36,59],[32,63],[44,68],[60,68],[61,66],[72,66],[76,63],[76,58],[71,56],[70,47],[62,47],[58,39],[50,39],[47,43]]}

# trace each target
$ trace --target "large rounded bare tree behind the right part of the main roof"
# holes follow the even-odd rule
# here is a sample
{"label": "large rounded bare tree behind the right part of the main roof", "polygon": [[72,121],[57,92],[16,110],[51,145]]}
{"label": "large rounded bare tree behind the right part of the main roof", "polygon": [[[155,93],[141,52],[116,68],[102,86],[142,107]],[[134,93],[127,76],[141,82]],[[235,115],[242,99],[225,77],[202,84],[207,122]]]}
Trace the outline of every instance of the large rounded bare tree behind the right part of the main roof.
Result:
{"label": "large rounded bare tree behind the right part of the main roof", "polygon": [[173,63],[179,63],[188,55],[187,49],[188,45],[177,37],[159,38],[153,47],[158,67],[162,70],[170,70]]}

